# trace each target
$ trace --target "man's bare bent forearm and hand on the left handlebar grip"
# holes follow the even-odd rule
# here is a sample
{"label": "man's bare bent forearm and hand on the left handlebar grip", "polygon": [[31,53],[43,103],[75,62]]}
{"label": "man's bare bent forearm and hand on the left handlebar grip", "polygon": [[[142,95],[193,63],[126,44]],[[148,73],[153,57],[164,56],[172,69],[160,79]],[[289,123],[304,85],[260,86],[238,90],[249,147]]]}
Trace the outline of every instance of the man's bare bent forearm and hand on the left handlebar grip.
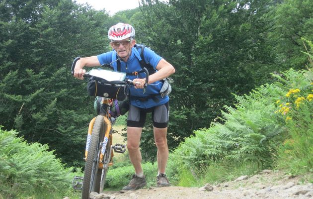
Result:
{"label": "man's bare bent forearm and hand on the left handlebar grip", "polygon": [[79,80],[83,80],[83,75],[85,74],[86,70],[83,69],[83,67],[94,67],[94,66],[100,66],[100,62],[97,58],[97,56],[91,56],[91,57],[82,57],[80,58],[75,65],[74,69],[74,77],[76,77]]}

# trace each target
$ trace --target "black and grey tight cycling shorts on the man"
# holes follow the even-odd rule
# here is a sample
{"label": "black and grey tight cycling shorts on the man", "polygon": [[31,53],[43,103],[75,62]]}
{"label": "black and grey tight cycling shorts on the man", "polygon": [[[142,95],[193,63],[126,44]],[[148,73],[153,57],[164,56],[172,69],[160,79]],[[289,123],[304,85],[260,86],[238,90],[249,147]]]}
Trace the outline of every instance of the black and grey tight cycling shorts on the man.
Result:
{"label": "black and grey tight cycling shorts on the man", "polygon": [[157,128],[166,128],[169,115],[168,101],[162,105],[151,108],[139,108],[134,105],[129,105],[127,126],[129,127],[144,127],[146,115],[152,112],[153,126]]}

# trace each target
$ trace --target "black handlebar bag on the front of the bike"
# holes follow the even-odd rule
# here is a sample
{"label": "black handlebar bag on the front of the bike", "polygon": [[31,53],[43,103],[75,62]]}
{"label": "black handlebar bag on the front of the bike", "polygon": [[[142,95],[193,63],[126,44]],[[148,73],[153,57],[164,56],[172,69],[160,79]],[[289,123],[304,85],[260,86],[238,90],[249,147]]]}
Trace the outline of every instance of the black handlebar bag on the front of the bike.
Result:
{"label": "black handlebar bag on the front of the bike", "polygon": [[91,77],[87,84],[89,96],[125,100],[128,95],[128,88],[123,81],[107,81],[98,77]]}

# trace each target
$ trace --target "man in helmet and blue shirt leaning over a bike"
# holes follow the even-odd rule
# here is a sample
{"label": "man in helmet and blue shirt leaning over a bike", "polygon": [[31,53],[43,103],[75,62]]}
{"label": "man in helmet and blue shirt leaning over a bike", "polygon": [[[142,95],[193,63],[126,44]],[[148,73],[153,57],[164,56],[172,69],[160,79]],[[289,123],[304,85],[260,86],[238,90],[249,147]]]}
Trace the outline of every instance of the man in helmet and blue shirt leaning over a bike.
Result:
{"label": "man in helmet and blue shirt leaning over a bike", "polygon": [[[156,70],[149,75],[149,82],[144,92],[145,76],[140,65],[140,52],[136,49],[135,29],[124,23],[113,25],[108,31],[108,37],[113,51],[98,56],[80,58],[76,63],[74,76],[83,79],[84,66],[93,67],[102,64],[110,64],[115,71],[127,73],[132,79],[134,87],[130,88],[130,109],[127,118],[127,149],[130,160],[135,168],[130,183],[123,190],[137,190],[145,185],[146,179],[141,166],[142,156],[139,150],[142,129],[145,124],[147,112],[152,112],[154,123],[154,137],[157,146],[157,186],[170,186],[165,175],[165,168],[168,159],[167,147],[167,122],[168,122],[168,96],[160,96],[164,78],[175,72],[174,67],[157,55],[149,48],[144,50],[145,62],[149,63]],[[135,73],[134,73],[135,72]],[[132,75],[135,74],[135,75]]]}

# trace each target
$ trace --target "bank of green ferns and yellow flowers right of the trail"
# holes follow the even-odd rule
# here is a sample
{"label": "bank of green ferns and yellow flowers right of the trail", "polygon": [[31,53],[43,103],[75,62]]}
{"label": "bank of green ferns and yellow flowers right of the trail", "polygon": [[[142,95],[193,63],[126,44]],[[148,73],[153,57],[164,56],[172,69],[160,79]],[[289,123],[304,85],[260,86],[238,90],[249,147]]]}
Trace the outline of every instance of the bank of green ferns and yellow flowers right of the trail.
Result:
{"label": "bank of green ferns and yellow flowers right of the trail", "polygon": [[236,96],[235,108],[226,107],[223,117],[216,118],[223,123],[195,131],[175,149],[169,172],[176,182],[186,172],[199,178],[223,162],[257,165],[254,170],[277,166],[293,174],[312,172],[312,71],[291,69],[275,77],[274,84]]}

